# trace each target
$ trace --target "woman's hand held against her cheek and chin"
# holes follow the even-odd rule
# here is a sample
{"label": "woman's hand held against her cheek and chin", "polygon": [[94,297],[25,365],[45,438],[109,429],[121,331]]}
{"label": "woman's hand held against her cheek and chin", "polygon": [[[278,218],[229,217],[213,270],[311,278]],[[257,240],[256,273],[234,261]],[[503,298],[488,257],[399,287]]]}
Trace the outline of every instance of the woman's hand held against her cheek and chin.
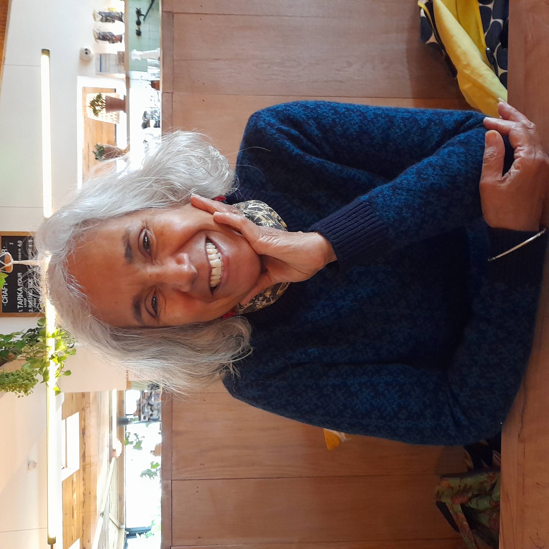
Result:
{"label": "woman's hand held against her cheek and chin", "polygon": [[337,259],[332,246],[320,233],[260,227],[233,206],[198,195],[192,195],[191,204],[209,211],[217,223],[241,233],[261,256],[261,275],[255,287],[242,299],[242,304],[273,284],[305,281]]}

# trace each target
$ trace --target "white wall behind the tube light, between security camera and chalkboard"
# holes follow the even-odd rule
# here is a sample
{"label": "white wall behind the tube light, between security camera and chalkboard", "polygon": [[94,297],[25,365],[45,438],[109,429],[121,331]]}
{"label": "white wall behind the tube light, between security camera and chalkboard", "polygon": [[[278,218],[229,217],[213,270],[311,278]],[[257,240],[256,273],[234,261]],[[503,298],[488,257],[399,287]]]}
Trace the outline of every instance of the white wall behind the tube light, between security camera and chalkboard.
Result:
{"label": "white wall behind the tube light, between security camera and chalkboard", "polygon": [[[33,231],[42,221],[40,56],[51,55],[53,204],[76,187],[81,139],[81,89],[102,85],[93,60],[80,59],[80,48],[114,52],[120,44],[96,43],[94,29],[123,32],[124,25],[93,20],[93,10],[115,7],[119,0],[12,2],[0,89],[0,229]],[[113,79],[110,79],[112,83]],[[122,81],[123,82],[123,81]],[[32,319],[0,318],[0,333],[30,327]]]}

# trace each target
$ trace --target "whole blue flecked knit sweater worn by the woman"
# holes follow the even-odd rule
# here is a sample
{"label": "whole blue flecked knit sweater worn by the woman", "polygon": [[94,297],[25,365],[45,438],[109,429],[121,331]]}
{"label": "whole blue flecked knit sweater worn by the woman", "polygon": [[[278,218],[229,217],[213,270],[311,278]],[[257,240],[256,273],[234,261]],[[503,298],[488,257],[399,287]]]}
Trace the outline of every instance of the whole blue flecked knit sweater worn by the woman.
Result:
{"label": "whole blue flecked knit sweater worn by the woman", "polygon": [[332,102],[250,117],[228,202],[265,201],[338,261],[247,315],[254,351],[229,393],[416,444],[499,432],[530,354],[546,238],[486,261],[531,233],[481,219],[482,121]]}

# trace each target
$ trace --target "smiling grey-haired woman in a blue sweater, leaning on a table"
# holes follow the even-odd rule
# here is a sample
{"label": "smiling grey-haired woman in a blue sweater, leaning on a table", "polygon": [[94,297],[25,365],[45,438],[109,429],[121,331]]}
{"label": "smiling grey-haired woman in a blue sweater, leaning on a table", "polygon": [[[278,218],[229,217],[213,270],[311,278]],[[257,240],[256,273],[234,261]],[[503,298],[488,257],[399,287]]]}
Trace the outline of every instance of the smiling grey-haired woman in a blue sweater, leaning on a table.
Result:
{"label": "smiling grey-haired woman in a blue sweater, leaning on a table", "polygon": [[500,113],[277,105],[250,117],[236,178],[173,133],[44,223],[49,298],[79,340],[183,393],[222,378],[347,433],[494,435],[528,362],[549,213],[535,127]]}

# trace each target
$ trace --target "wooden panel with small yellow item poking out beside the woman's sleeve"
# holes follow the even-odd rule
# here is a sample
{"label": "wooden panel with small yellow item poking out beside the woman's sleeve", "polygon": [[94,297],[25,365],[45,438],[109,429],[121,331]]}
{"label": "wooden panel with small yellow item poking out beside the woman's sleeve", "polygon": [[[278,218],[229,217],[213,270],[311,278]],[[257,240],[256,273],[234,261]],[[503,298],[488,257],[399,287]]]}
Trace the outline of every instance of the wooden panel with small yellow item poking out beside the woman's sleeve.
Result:
{"label": "wooden panel with small yellow item poking out beside the woman's sleeve", "polygon": [[[442,474],[462,467],[461,448],[365,436],[328,451],[322,429],[253,408],[227,391],[173,402],[174,480]],[[433,506],[430,499],[418,505]]]}

